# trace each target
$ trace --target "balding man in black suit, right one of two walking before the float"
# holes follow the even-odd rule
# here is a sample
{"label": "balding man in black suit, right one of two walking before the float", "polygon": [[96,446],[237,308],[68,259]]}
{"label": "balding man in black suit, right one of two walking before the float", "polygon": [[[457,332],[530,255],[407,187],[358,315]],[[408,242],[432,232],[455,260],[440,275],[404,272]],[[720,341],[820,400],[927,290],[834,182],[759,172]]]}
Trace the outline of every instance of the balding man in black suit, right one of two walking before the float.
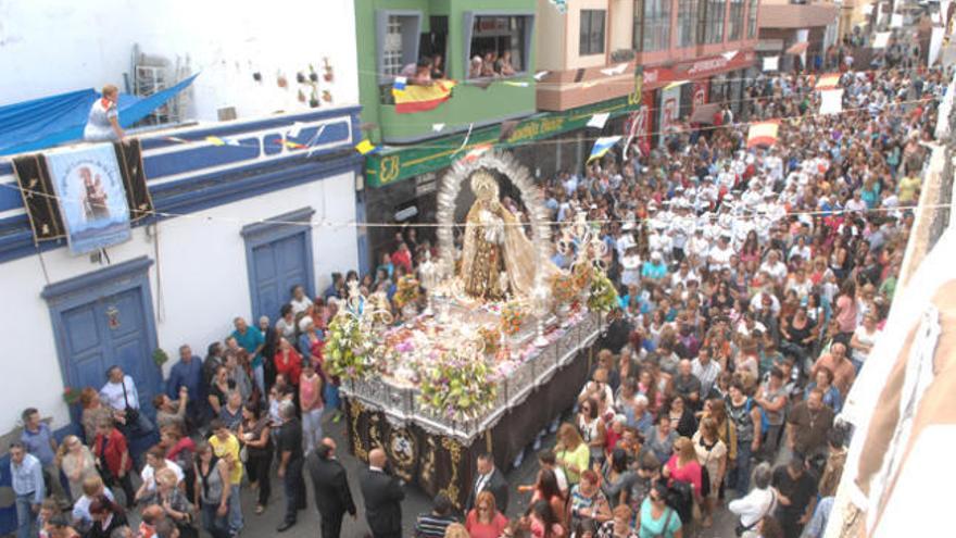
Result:
{"label": "balding man in black suit, right one of two walking before the float", "polygon": [[365,520],[373,538],[401,538],[402,481],[386,471],[388,458],[382,449],[368,452],[368,471],[362,477]]}

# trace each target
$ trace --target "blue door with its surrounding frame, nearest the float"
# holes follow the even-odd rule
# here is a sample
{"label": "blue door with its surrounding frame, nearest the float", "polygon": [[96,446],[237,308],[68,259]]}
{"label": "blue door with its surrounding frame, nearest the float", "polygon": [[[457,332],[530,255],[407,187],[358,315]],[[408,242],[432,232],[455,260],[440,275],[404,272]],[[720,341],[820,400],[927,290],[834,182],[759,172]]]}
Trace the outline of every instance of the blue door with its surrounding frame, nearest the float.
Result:
{"label": "blue door with its surrounding frame, nearest the float", "polygon": [[304,209],[242,228],[253,321],[267,315],[275,323],[293,286],[303,286],[306,295],[315,296],[312,214],[311,208]]}

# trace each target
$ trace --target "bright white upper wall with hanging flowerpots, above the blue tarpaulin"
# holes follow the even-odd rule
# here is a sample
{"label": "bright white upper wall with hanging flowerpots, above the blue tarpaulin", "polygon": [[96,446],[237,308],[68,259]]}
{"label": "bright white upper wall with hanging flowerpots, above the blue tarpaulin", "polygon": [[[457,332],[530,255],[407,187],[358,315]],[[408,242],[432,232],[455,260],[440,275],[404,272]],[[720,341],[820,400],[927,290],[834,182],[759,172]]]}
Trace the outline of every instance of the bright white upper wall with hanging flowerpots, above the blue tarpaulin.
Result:
{"label": "bright white upper wall with hanging flowerpots, above the blue tarpaulin", "polygon": [[[310,110],[297,100],[295,73],[309,65],[332,103],[358,102],[353,0],[7,0],[0,1],[0,104],[66,91],[123,88],[134,45],[202,74],[190,117],[215,121],[236,107],[240,118]],[[263,82],[255,83],[253,72]],[[276,84],[285,73],[289,85]],[[309,92],[306,91],[306,98]]]}

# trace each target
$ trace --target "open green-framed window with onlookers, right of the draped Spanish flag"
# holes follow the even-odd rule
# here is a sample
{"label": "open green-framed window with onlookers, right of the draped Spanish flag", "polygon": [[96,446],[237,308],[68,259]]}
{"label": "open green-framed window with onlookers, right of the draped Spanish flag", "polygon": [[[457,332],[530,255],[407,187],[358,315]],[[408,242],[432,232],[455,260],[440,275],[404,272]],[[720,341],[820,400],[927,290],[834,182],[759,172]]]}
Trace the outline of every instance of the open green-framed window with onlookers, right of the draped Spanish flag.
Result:
{"label": "open green-framed window with onlookers, right of the draped Spanish flag", "polygon": [[465,78],[511,77],[531,66],[532,13],[465,13]]}

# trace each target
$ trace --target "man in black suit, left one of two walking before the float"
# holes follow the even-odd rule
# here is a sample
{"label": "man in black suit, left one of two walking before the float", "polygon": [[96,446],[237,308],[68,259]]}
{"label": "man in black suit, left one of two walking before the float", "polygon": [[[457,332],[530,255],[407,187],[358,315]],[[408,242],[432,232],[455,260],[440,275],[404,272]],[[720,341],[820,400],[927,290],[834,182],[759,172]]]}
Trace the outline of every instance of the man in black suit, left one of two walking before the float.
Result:
{"label": "man in black suit, left one of two walking before the float", "polygon": [[315,506],[322,514],[322,538],[339,538],[345,512],[355,517],[345,467],[336,460],[336,441],[326,437],[305,458],[305,468],[315,487]]}

